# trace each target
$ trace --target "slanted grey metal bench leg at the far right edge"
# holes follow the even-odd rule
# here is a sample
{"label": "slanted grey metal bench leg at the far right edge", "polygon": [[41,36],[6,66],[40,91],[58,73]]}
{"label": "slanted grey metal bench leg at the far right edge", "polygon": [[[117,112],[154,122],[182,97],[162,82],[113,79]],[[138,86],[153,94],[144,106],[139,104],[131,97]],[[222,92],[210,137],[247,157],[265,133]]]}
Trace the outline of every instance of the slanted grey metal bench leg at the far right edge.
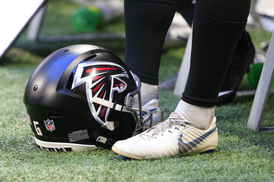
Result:
{"label": "slanted grey metal bench leg at the far right edge", "polygon": [[269,48],[266,54],[265,63],[253,100],[249,118],[247,121],[247,128],[252,131],[274,131],[274,127],[260,128],[263,113],[265,112],[266,102],[273,83],[274,77],[274,31],[270,40]]}

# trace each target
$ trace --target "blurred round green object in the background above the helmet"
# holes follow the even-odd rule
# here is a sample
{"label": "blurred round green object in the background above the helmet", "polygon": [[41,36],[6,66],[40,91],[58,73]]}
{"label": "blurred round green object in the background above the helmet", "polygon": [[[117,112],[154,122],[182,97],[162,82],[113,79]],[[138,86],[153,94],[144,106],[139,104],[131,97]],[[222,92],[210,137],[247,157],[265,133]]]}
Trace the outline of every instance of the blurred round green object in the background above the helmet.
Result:
{"label": "blurred round green object in the background above the helmet", "polygon": [[103,21],[104,15],[96,6],[81,7],[71,15],[72,25],[78,31],[92,31]]}

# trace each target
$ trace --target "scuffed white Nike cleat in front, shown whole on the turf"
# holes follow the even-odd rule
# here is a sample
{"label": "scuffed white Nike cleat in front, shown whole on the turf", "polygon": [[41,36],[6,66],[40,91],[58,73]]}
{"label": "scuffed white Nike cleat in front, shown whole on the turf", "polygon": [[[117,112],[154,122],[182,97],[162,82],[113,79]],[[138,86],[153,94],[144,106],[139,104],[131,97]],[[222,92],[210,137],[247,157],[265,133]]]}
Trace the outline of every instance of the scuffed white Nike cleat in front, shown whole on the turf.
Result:
{"label": "scuffed white Nike cleat in front, shown whole on the turf", "polygon": [[173,112],[166,121],[139,135],[116,142],[112,150],[123,159],[143,160],[210,153],[217,145],[215,116],[211,119],[208,129],[201,130]]}

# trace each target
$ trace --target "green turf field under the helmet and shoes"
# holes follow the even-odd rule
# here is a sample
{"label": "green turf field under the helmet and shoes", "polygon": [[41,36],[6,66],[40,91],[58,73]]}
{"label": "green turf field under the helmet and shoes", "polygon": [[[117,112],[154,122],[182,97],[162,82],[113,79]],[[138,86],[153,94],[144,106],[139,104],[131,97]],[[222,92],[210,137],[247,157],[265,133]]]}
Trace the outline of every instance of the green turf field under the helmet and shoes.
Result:
{"label": "green turf field under the helmet and shoes", "polygon": [[[64,9],[72,10],[78,5],[65,1],[49,3],[45,15],[49,20],[45,18],[41,33],[45,36],[62,31],[77,33],[68,24],[56,27],[53,15],[60,13],[60,18],[66,19],[69,13]],[[102,28],[102,31],[123,31],[122,21],[111,26]],[[271,36],[261,29],[250,29],[249,32],[257,48]],[[273,181],[273,133],[254,133],[246,128],[252,96],[236,98],[231,104],[216,107],[219,145],[212,154],[138,161],[122,160],[104,149],[78,153],[39,150],[27,121],[23,94],[28,76],[45,58],[45,53],[33,51],[36,43],[29,43],[31,49],[28,46],[22,49],[24,34],[20,41],[0,64],[0,181]],[[64,44],[70,45],[71,42]],[[183,50],[184,47],[179,47],[164,52],[160,80],[178,70]],[[116,53],[124,57],[123,52]],[[251,88],[246,78],[240,89],[244,88]],[[159,94],[166,118],[180,98],[174,97],[170,91],[160,91]],[[274,96],[271,95],[263,126],[274,125],[273,110]]]}

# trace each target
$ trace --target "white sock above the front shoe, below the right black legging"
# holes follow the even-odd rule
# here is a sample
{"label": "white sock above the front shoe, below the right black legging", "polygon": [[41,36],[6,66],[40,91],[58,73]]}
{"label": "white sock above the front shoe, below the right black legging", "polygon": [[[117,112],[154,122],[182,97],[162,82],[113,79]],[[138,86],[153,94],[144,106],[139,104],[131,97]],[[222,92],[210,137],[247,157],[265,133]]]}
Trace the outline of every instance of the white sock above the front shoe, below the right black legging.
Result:
{"label": "white sock above the front shoe, below the right black legging", "polygon": [[209,127],[211,118],[215,114],[215,106],[194,106],[181,100],[176,107],[175,112],[184,116],[184,118],[194,127],[199,129],[207,129]]}

